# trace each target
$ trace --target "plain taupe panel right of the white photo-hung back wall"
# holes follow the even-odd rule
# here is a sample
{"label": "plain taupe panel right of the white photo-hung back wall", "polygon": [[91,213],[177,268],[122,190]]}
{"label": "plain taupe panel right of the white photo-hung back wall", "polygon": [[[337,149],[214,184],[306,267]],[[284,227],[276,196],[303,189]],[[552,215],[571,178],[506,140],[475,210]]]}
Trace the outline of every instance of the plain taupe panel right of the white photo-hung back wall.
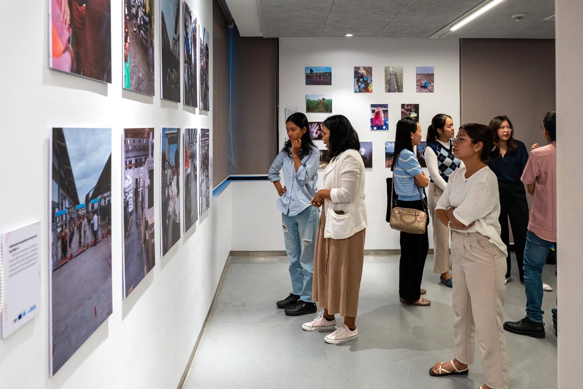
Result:
{"label": "plain taupe panel right of the white photo-hung back wall", "polygon": [[554,40],[460,40],[461,123],[507,115],[530,150],[545,144],[540,124],[556,108]]}

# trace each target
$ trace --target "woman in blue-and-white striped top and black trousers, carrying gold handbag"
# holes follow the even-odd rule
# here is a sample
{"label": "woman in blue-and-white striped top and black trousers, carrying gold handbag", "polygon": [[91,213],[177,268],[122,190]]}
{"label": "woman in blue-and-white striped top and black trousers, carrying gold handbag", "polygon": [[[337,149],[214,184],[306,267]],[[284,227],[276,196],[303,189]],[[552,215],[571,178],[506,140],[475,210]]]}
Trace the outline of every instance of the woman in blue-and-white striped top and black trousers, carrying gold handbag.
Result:
{"label": "woman in blue-and-white striped top and black trousers, carrying gold handbag", "polygon": [[[413,152],[419,146],[423,135],[421,125],[415,118],[407,116],[397,122],[395,135],[395,155],[393,156],[393,184],[398,196],[397,206],[426,211],[427,203],[420,187],[429,185],[421,165]],[[429,215],[427,216],[429,224]],[[401,259],[399,260],[399,297],[402,303],[429,306],[431,302],[421,297],[426,290],[421,289],[423,267],[429,251],[427,228],[423,234],[401,232]]]}

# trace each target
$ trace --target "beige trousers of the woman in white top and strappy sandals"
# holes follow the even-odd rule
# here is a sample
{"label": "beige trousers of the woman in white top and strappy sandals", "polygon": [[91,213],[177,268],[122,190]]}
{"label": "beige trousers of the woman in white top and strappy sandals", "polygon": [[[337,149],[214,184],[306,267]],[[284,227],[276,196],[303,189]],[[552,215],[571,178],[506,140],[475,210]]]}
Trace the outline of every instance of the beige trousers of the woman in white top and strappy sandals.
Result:
{"label": "beige trousers of the woman in white top and strappy sandals", "polygon": [[451,257],[455,358],[472,365],[477,337],[486,385],[507,389],[508,359],[502,328],[506,255],[482,234],[454,231]]}

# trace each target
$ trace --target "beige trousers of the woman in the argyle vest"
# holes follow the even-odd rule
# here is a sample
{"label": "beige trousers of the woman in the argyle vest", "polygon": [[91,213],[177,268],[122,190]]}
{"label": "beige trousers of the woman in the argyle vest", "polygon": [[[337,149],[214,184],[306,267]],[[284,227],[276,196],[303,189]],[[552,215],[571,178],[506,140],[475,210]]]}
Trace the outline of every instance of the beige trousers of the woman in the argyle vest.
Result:
{"label": "beige trousers of the woman in the argyle vest", "polygon": [[431,223],[433,223],[433,258],[435,260],[433,272],[437,274],[444,274],[451,269],[451,262],[449,261],[449,229],[435,217],[436,205],[442,194],[443,191],[440,187],[435,183],[429,183],[427,208],[429,208],[429,216]]}

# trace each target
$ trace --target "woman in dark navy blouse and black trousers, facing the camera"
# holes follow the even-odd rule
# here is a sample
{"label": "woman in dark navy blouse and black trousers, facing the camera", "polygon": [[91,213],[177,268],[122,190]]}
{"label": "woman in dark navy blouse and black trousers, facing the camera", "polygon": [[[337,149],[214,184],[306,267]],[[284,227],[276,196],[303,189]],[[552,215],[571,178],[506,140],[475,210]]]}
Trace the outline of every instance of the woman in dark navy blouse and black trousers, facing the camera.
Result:
{"label": "woman in dark navy blouse and black trousers, facing the camera", "polygon": [[[526,244],[526,228],[528,227],[528,202],[526,191],[520,177],[528,160],[528,152],[523,142],[514,139],[514,127],[506,115],[494,117],[489,125],[494,134],[494,149],[488,166],[498,178],[498,192],[500,194],[500,234],[506,245],[510,244],[508,233],[508,219],[512,227],[514,248],[518,264],[520,282],[524,283],[522,269],[524,246]],[[506,257],[506,275],[504,283],[510,281],[510,250]]]}

